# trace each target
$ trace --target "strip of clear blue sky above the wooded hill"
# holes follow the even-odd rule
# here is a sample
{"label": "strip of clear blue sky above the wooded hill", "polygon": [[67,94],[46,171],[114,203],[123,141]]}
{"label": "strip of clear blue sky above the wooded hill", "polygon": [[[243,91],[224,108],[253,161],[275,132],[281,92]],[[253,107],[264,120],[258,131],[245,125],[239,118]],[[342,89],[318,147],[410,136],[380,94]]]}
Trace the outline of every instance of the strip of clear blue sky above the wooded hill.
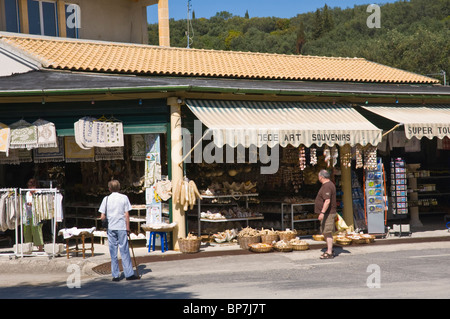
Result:
{"label": "strip of clear blue sky above the wooded hill", "polygon": [[[292,18],[299,13],[316,11],[325,4],[329,7],[352,8],[354,5],[383,4],[396,0],[191,0],[196,18],[210,18],[219,11],[228,11],[243,17],[248,10],[250,17]],[[169,17],[175,20],[186,19],[188,0],[169,0]],[[157,6],[148,8],[149,23],[158,21]]]}

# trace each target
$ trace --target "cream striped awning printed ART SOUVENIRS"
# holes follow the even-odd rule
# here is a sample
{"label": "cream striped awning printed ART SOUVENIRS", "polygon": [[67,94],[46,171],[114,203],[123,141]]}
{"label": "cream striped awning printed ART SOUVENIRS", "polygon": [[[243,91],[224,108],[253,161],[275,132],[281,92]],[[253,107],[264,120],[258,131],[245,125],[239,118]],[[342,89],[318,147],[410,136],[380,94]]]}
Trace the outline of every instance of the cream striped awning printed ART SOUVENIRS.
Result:
{"label": "cream striped awning printed ART SOUVENIRS", "polygon": [[345,145],[381,142],[382,131],[349,105],[331,103],[187,100],[222,147],[277,144]]}

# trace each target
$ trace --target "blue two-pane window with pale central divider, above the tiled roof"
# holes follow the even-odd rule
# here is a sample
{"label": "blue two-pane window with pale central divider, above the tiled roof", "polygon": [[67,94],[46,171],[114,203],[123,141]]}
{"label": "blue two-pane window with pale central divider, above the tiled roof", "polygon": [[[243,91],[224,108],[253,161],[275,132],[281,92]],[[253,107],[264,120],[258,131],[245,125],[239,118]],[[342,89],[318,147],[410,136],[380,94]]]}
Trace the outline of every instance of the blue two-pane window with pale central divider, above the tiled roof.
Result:
{"label": "blue two-pane window with pale central divider, above the tiled roof", "polygon": [[56,3],[28,0],[28,25],[30,34],[57,36]]}

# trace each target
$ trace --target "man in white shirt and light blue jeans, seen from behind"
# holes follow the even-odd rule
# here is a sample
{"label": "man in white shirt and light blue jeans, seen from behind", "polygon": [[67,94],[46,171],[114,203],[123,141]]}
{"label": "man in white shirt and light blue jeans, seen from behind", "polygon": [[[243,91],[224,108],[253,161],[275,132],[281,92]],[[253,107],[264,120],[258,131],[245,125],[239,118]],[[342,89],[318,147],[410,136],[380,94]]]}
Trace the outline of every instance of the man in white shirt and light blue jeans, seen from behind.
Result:
{"label": "man in white shirt and light blue jeans, seen from behind", "polygon": [[117,180],[111,180],[108,183],[110,195],[103,198],[99,212],[101,219],[108,220],[108,243],[109,253],[111,255],[111,274],[113,281],[120,280],[119,260],[117,250],[120,250],[122,257],[123,272],[126,280],[139,279],[134,274],[133,264],[131,262],[130,250],[128,248],[128,232],[130,231],[131,204],[128,197],[120,194],[120,183]]}

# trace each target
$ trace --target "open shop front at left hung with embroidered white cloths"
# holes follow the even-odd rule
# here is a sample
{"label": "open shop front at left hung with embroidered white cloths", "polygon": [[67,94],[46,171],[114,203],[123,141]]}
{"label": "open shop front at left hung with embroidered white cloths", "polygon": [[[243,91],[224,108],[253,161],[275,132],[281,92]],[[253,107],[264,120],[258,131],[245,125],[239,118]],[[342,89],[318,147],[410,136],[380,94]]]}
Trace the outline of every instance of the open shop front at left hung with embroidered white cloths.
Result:
{"label": "open shop front at left hung with embroidered white cloths", "polygon": [[[166,100],[17,104],[14,112],[2,111],[2,190],[16,191],[20,202],[27,181],[34,178],[36,194],[61,195],[58,211],[52,196],[33,199],[33,223],[43,225],[45,243],[54,241],[58,230],[72,227],[92,229],[103,239],[98,207],[109,194],[108,181],[117,179],[133,206],[131,237],[145,240],[140,230],[146,222],[145,189],[168,174],[167,113]],[[5,206],[2,201],[3,211]],[[169,218],[168,206],[162,210]],[[20,243],[20,218],[14,225],[18,214],[7,211],[11,222],[2,214],[1,230]]]}

